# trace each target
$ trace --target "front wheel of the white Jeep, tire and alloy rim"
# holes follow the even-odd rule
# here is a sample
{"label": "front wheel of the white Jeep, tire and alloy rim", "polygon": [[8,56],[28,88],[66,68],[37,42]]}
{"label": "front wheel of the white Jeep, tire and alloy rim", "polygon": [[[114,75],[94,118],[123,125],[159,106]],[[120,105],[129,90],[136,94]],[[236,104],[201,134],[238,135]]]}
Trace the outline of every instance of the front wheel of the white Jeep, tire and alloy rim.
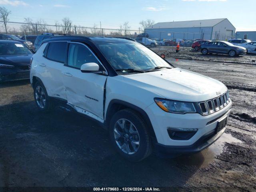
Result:
{"label": "front wheel of the white Jeep, tire and alloy rim", "polygon": [[152,141],[146,123],[134,110],[116,112],[110,120],[109,134],[114,148],[126,160],[138,162],[152,153]]}

